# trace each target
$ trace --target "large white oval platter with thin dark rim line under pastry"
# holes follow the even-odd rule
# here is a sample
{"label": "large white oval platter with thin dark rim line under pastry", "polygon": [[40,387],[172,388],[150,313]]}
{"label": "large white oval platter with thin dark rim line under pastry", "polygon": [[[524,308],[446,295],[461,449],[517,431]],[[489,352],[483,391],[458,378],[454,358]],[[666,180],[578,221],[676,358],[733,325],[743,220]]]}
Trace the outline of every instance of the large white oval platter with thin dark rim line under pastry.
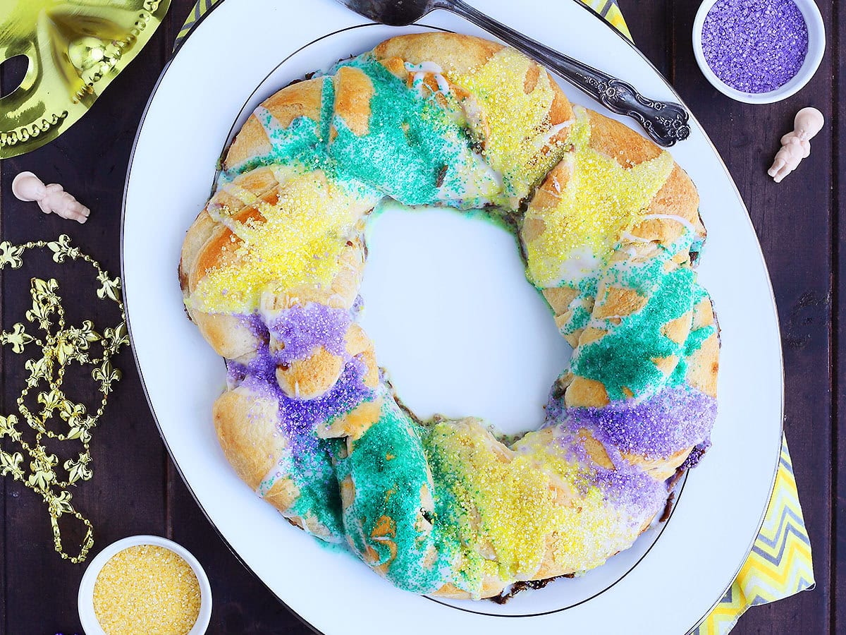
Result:
{"label": "large white oval platter with thin dark rim line under pastry", "polygon": [[[645,95],[679,101],[634,47],[579,3],[474,3]],[[224,387],[224,367],[185,319],[176,277],[184,232],[210,194],[217,157],[252,108],[307,72],[402,32],[485,35],[442,11],[421,22],[371,25],[331,0],[226,0],[162,72],[130,160],[122,236],[129,329],[162,439],[222,537],[320,632],[364,633],[376,624],[388,632],[437,625],[445,634],[688,632],[732,583],[761,527],[783,406],[777,313],[761,248],[695,120],[689,140],[672,152],[699,186],[708,228],[700,280],[722,328],[719,415],[713,447],[686,479],[673,516],[632,549],[508,605],[407,594],[290,527],[240,482],[217,444],[211,403]],[[574,102],[610,114],[562,86]],[[506,432],[538,426],[569,350],[523,279],[514,239],[452,212],[386,206],[368,244],[363,323],[400,396],[424,416],[482,416]]]}

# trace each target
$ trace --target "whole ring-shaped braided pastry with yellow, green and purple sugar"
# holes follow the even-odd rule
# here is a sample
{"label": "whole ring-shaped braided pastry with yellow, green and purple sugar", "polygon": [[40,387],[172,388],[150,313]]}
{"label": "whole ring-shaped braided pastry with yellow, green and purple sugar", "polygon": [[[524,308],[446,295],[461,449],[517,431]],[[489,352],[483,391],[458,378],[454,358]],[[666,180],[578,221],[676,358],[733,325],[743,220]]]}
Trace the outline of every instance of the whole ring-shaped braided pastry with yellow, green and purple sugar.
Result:
{"label": "whole ring-shaped braided pastry with yellow, green and purple sugar", "polygon": [[[382,42],[267,99],[223,168],[179,268],[227,360],[222,449],[288,521],[398,587],[478,599],[601,565],[709,445],[719,345],[692,268],[695,187],[519,52]],[[513,221],[574,347],[541,429],[506,443],[479,419],[398,405],[355,321],[384,197]]]}

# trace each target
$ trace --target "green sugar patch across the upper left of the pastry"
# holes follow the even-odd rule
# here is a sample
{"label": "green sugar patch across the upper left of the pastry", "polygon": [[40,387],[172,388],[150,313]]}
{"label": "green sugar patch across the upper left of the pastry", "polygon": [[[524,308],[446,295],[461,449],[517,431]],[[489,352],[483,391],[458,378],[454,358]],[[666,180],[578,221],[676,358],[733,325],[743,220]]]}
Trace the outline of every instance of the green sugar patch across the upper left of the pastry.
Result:
{"label": "green sugar patch across the upper left of the pastry", "polygon": [[406,205],[438,202],[442,187],[464,191],[464,174],[479,167],[472,164],[468,131],[450,119],[434,98],[409,91],[372,56],[351,59],[338,68],[342,66],[360,69],[373,84],[366,135],[355,135],[334,114],[335,91],[327,77],[321,88],[320,121],[302,116],[283,128],[266,108],[256,108],[255,117],[272,149],[234,166],[222,180],[262,165],[296,164],[323,169],[334,179]]}

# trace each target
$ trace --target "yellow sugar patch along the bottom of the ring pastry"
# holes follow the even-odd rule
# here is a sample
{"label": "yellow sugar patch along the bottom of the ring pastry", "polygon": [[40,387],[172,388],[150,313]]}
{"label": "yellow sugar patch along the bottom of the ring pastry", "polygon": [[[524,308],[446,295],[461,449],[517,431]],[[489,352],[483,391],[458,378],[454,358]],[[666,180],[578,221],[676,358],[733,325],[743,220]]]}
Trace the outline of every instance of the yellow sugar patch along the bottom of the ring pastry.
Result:
{"label": "yellow sugar patch along the bottom of the ring pastry", "polygon": [[601,565],[637,536],[626,512],[589,484],[590,470],[547,433],[526,435],[506,456],[486,443],[478,424],[431,430],[427,449],[461,510],[456,529],[464,577],[456,583],[471,594],[484,577],[534,575],[550,549],[556,567],[577,571]]}

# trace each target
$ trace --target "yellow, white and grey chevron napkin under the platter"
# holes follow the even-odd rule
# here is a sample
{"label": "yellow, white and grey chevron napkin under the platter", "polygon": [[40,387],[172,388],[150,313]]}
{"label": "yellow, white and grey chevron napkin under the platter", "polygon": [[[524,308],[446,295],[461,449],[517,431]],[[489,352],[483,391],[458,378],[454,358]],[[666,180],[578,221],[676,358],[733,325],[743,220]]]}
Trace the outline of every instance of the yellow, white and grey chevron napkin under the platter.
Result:
{"label": "yellow, white and grey chevron napkin under the platter", "polygon": [[[174,49],[190,33],[203,14],[222,0],[198,0],[179,35]],[[620,33],[632,40],[629,27],[616,0],[580,0],[602,16]],[[766,510],[761,533],[738,577],[695,635],[725,635],[737,624],[750,606],[775,602],[814,588],[814,571],[810,557],[810,540],[802,518],[799,493],[796,491],[793,464],[788,441],[782,437],[782,455],[778,464],[776,485]]]}

